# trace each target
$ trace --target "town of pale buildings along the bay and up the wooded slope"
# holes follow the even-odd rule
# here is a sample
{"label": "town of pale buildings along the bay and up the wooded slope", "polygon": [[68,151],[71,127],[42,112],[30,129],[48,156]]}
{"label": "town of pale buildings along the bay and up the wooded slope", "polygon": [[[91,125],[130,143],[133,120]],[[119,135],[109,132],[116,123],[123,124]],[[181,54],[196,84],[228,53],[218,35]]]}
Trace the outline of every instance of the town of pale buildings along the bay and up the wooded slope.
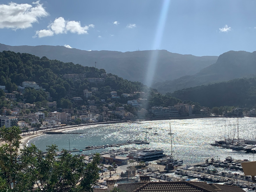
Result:
{"label": "town of pale buildings along the bay and up the wooded slope", "polygon": [[[78,79],[85,78],[81,74],[66,74],[64,78]],[[88,78],[88,82],[105,81],[108,74],[101,74],[102,78]],[[115,77],[110,77],[115,80]],[[1,109],[0,125],[6,127],[19,126],[22,131],[35,131],[41,129],[50,129],[63,127],[66,125],[79,125],[93,122],[111,122],[111,121],[127,121],[127,120],[161,120],[169,118],[201,118],[210,117],[213,113],[209,107],[200,107],[200,113],[195,114],[195,105],[177,103],[174,106],[154,106],[150,109],[147,107],[147,98],[149,95],[144,92],[121,93],[118,95],[116,91],[111,91],[108,94],[108,99],[100,99],[100,103],[90,99],[97,95],[97,87],[90,87],[90,89],[83,90],[82,97],[72,97],[70,102],[73,103],[87,103],[87,105],[77,105],[78,109],[62,109],[57,108],[57,102],[51,101],[52,97],[49,92],[45,92],[48,96],[46,102],[47,108],[39,107],[36,103],[26,103],[24,92],[26,88],[35,90],[44,90],[36,82],[24,81],[21,86],[18,86],[17,91],[8,93],[5,86],[0,86],[4,92],[4,100],[10,103],[10,109],[3,107]],[[157,93],[156,93],[157,94]],[[128,100],[136,95],[138,99]],[[17,102],[17,98],[19,101]],[[121,103],[119,100],[126,103]],[[51,102],[50,102],[51,101]],[[132,112],[127,111],[127,108],[136,109]],[[56,111],[55,111],[56,110]],[[31,112],[33,111],[33,112]],[[58,112],[57,112],[58,111]],[[223,111],[222,116],[249,116],[255,117],[255,109],[244,111],[241,108],[234,108],[233,111]]]}

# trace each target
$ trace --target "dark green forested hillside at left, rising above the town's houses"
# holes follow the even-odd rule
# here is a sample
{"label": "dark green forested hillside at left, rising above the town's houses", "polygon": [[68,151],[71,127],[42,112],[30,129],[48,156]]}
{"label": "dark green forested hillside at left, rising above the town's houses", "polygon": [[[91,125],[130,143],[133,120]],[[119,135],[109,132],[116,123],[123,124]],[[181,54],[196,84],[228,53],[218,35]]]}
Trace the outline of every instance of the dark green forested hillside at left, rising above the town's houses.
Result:
{"label": "dark green forested hillside at left, rising above the town's houses", "polygon": [[[88,99],[93,99],[95,104],[100,105],[102,105],[101,99],[105,99],[106,103],[116,102],[118,105],[119,103],[127,104],[127,99],[139,98],[139,95],[134,95],[130,98],[113,99],[110,95],[111,91],[116,91],[118,96],[122,93],[147,92],[149,93],[148,107],[173,106],[180,102],[179,99],[155,93],[156,90],[149,90],[140,82],[124,80],[113,74],[109,74],[109,76],[115,77],[115,80],[107,77],[104,82],[89,82],[88,79],[83,78],[65,79],[64,74],[85,74],[86,78],[99,78],[106,71],[95,67],[49,60],[46,57],[40,58],[27,53],[0,52],[0,70],[0,85],[6,86],[8,92],[16,91],[17,86],[21,86],[23,81],[35,81],[50,93],[52,101],[56,101],[57,107],[61,108],[75,108],[88,104],[83,90],[90,90],[91,87],[98,88],[98,91]],[[0,96],[4,96],[4,94],[0,93]],[[71,102],[72,97],[81,97],[83,100]],[[37,103],[41,107],[47,106],[47,93],[43,90],[25,88],[25,93],[22,96],[17,94],[16,98],[17,102],[26,101]],[[4,104],[2,98],[0,107],[3,107]]]}

